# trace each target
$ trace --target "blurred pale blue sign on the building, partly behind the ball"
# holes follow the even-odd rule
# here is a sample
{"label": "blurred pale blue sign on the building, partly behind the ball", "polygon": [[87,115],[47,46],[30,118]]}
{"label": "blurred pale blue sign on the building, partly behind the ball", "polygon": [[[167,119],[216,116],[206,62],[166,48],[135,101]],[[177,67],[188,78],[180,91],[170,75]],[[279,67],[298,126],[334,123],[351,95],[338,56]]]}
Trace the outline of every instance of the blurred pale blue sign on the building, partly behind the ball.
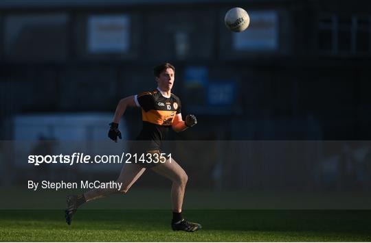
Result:
{"label": "blurred pale blue sign on the building, partly behind the ball", "polygon": [[276,11],[249,12],[250,25],[233,34],[233,46],[238,51],[276,51],[278,49],[278,13]]}

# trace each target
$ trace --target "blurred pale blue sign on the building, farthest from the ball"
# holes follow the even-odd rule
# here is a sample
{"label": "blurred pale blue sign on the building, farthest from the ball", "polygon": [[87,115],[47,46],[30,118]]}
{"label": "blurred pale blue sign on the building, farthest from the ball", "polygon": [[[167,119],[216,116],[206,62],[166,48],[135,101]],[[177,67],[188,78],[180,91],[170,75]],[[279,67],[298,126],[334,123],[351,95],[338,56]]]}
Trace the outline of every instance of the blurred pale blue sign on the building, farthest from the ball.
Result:
{"label": "blurred pale blue sign on the building, farthest from the ball", "polygon": [[87,40],[90,53],[125,53],[130,47],[129,16],[90,16]]}

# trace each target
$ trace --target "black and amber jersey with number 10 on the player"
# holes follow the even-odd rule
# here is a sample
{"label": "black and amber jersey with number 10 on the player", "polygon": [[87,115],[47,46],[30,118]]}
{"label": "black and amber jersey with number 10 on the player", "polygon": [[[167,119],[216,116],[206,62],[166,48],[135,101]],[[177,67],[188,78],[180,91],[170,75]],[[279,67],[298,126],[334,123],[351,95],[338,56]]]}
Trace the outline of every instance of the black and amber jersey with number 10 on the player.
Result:
{"label": "black and amber jersey with number 10 on the player", "polygon": [[176,114],[181,113],[181,102],[175,94],[164,97],[159,89],[135,95],[135,103],[142,108],[143,129],[137,140],[150,140],[150,148],[161,149]]}

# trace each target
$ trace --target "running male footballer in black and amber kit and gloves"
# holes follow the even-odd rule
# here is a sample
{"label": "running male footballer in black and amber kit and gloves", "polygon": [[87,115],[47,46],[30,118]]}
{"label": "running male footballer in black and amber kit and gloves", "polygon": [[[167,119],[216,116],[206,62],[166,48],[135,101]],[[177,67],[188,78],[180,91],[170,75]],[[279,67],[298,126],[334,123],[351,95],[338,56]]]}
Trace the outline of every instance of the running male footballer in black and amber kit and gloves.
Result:
{"label": "running male footballer in black and amber kit and gloves", "polygon": [[181,216],[183,205],[183,196],[186,189],[188,176],[186,172],[175,162],[172,157],[161,155],[161,144],[165,140],[169,127],[174,131],[184,131],[188,127],[196,125],[196,117],[192,114],[186,116],[184,121],[181,117],[181,102],[175,94],[171,93],[175,81],[175,68],[169,63],[155,66],[154,75],[157,81],[157,89],[150,92],[142,92],[130,97],[121,99],[117,105],[113,122],[110,124],[109,138],[117,142],[117,137],[122,138],[118,129],[118,123],[126,107],[141,107],[143,129],[140,131],[136,140],[140,142],[139,146],[131,149],[132,153],[152,155],[154,158],[161,158],[161,163],[131,163],[125,164],[120,172],[116,182],[122,183],[122,190],[114,188],[100,188],[90,190],[80,195],[67,196],[67,209],[65,218],[68,225],[71,225],[72,216],[83,203],[99,199],[113,193],[126,193],[133,186],[133,183],[139,179],[146,168],[150,168],[159,175],[162,175],[172,181],[172,230],[194,232],[201,229],[201,225],[188,222]]}

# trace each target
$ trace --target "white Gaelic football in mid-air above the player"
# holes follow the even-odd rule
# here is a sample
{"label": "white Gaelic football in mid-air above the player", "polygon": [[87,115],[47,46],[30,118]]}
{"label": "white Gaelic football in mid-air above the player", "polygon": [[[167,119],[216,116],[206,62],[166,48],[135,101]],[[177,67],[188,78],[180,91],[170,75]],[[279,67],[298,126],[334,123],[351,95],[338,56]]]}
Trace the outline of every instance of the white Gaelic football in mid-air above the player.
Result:
{"label": "white Gaelic football in mid-air above the player", "polygon": [[232,8],[225,14],[224,23],[228,29],[241,32],[249,27],[250,17],[243,8]]}

